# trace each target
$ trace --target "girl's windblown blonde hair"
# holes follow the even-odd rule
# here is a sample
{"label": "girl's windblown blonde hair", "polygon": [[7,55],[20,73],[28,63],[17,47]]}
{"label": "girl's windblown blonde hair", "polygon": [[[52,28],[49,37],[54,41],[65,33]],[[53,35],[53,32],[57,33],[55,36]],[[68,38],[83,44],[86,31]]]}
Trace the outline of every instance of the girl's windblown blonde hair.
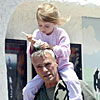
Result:
{"label": "girl's windblown blonde hair", "polygon": [[63,25],[66,23],[66,19],[60,17],[58,9],[51,3],[40,4],[37,9],[36,18],[37,20],[51,22],[57,25]]}

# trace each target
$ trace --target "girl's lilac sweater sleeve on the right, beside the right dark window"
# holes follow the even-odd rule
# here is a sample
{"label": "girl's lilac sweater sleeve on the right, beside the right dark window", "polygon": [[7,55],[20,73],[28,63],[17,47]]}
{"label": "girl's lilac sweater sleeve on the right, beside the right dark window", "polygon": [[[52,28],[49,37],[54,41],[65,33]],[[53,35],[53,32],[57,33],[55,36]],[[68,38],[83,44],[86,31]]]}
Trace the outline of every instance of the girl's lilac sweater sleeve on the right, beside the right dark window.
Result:
{"label": "girl's lilac sweater sleeve on the right, beside the right dark window", "polygon": [[54,46],[53,51],[56,57],[69,57],[70,56],[70,39],[65,30],[58,36],[58,43]]}

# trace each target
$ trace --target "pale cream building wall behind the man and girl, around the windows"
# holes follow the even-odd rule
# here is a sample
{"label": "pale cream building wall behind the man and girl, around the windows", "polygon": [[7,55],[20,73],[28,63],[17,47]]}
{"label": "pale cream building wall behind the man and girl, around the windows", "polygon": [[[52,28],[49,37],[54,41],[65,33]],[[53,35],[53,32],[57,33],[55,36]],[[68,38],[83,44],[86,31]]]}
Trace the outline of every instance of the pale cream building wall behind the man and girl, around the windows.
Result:
{"label": "pale cream building wall behind the man and girl, around the windows", "polygon": [[[50,0],[49,0],[50,1]],[[52,1],[52,0],[51,0]],[[82,18],[92,17],[100,18],[100,8],[95,5],[81,6],[68,2],[53,2],[65,17],[70,16],[70,21],[62,26],[69,34],[71,43],[82,44],[82,66],[84,79],[84,43],[87,38],[84,36],[84,29],[82,28]],[[25,36],[21,34],[22,31],[32,33],[34,29],[38,28],[35,13],[37,5],[40,1],[36,0],[0,0],[0,99],[8,100],[7,92],[7,70],[5,64],[5,38],[7,39],[21,39],[26,40]],[[86,31],[88,34],[88,31]],[[91,41],[92,43],[93,41]],[[93,42],[94,43],[94,42]],[[98,48],[100,48],[98,46]],[[28,58],[29,59],[29,58]],[[31,79],[31,67],[28,60],[28,81]],[[88,62],[87,62],[88,63]],[[85,80],[85,79],[84,79]],[[98,99],[99,100],[99,99]]]}

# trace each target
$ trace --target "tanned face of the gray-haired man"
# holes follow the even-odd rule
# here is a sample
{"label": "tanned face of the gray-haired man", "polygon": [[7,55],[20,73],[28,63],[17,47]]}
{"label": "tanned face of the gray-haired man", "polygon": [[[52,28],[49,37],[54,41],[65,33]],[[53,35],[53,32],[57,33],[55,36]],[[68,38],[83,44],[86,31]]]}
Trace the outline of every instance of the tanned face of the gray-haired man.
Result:
{"label": "tanned face of the gray-haired man", "polygon": [[46,53],[43,57],[34,57],[33,65],[37,74],[45,83],[55,82],[57,80],[58,64],[49,53]]}

